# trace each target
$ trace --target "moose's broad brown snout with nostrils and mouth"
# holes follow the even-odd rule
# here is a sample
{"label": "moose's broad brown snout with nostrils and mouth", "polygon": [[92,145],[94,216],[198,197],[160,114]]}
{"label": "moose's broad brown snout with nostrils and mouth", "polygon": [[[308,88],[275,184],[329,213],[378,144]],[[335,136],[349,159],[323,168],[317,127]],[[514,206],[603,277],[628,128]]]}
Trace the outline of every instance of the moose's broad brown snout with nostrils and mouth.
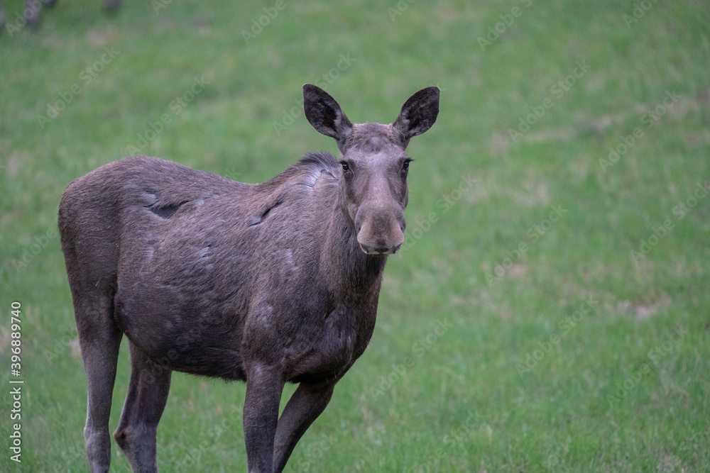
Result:
{"label": "moose's broad brown snout with nostrils and mouth", "polygon": [[402,211],[373,213],[364,216],[362,223],[358,224],[358,221],[356,218],[357,241],[360,249],[368,255],[393,255],[404,243],[405,220]]}

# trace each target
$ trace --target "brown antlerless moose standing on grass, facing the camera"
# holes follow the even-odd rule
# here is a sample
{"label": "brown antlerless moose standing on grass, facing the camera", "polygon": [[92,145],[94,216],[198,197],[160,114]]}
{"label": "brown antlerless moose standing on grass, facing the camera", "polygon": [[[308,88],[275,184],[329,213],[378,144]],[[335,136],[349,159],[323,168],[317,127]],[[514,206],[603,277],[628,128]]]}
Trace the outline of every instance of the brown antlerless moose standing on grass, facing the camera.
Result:
{"label": "brown antlerless moose standing on grass, facing the camera", "polygon": [[[244,184],[155,157],[75,179],[58,225],[88,379],[92,472],[111,459],[109,411],[123,335],[131,379],[114,439],[133,472],[157,472],[173,371],[246,382],[249,472],[280,472],[373,333],[383,269],[404,241],[410,138],[439,89],[389,125],[351,123],[303,86],[307,120],[342,153],[312,152]],[[298,384],[278,416],[286,382]]]}

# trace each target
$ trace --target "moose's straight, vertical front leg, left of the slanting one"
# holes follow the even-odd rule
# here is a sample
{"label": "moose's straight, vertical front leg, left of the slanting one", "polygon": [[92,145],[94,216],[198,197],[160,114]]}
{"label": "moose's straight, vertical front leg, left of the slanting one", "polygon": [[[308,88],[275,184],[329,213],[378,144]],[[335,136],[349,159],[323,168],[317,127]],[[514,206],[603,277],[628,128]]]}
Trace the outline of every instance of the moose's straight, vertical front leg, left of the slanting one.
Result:
{"label": "moose's straight, vertical front leg, left of the slanting one", "polygon": [[283,384],[279,369],[258,365],[247,372],[244,443],[249,473],[273,471],[273,439]]}

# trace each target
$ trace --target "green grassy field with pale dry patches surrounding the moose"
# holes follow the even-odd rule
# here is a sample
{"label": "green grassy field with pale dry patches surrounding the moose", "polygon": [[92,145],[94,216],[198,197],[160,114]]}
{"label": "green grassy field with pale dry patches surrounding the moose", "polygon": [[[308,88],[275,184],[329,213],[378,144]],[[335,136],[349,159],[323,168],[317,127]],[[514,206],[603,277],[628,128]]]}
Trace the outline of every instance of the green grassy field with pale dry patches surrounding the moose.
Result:
{"label": "green grassy field with pale dry patches surrounding the moose", "polygon": [[[287,471],[710,471],[706,2],[62,0],[36,32],[4,3],[0,471],[88,471],[67,184],[133,154],[262,182],[337,152],[305,82],[356,122],[429,85],[442,103],[408,148],[408,240],[370,346]],[[160,469],[245,471],[244,391],[175,374]]]}

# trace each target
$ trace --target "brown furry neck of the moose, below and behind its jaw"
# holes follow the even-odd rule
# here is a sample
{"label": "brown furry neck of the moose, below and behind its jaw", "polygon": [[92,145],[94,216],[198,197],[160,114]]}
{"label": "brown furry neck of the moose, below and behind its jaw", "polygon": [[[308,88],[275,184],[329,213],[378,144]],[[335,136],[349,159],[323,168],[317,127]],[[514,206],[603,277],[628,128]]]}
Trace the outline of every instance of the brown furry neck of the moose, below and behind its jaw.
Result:
{"label": "brown furry neck of the moose, below and behind its jaw", "polygon": [[354,224],[346,211],[334,202],[321,255],[334,294],[347,294],[352,302],[378,294],[387,256],[366,255],[357,242]]}

